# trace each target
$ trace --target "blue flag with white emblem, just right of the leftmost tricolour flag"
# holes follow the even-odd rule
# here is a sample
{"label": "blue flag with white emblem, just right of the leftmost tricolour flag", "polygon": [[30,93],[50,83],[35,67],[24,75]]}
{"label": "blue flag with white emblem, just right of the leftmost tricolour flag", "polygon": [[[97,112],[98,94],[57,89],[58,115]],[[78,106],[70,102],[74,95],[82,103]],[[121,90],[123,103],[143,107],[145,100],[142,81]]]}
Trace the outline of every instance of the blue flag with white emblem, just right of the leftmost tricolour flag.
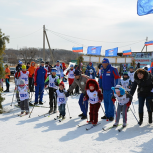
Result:
{"label": "blue flag with white emblem, just right of the leftmost tricolour flag", "polygon": [[102,46],[89,46],[87,49],[87,54],[91,55],[101,55]]}

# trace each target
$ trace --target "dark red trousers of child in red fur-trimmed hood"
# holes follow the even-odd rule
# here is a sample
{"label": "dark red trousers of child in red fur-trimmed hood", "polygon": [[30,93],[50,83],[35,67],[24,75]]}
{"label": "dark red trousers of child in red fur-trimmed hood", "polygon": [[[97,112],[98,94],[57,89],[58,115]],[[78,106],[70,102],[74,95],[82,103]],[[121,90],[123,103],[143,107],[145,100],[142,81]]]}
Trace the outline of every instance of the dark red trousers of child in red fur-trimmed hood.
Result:
{"label": "dark red trousers of child in red fur-trimmed hood", "polygon": [[98,122],[98,111],[100,108],[100,103],[90,104],[90,122],[97,124]]}

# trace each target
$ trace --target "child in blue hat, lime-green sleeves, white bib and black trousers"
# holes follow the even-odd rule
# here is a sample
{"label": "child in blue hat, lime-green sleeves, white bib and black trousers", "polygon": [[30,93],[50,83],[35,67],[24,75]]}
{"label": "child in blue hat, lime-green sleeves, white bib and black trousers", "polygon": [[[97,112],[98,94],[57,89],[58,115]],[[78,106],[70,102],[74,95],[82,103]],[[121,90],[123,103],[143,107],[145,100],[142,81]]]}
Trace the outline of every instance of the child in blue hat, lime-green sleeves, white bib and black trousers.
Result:
{"label": "child in blue hat, lime-green sleeves, white bib and black trousers", "polygon": [[[57,109],[57,102],[55,101],[55,92],[57,90],[57,86],[60,83],[59,77],[56,75],[56,68],[51,69],[51,74],[47,77],[45,80],[45,85],[48,84],[49,87],[49,104],[50,104],[50,110],[49,113],[56,113]],[[53,110],[53,103],[54,103],[54,110]]]}

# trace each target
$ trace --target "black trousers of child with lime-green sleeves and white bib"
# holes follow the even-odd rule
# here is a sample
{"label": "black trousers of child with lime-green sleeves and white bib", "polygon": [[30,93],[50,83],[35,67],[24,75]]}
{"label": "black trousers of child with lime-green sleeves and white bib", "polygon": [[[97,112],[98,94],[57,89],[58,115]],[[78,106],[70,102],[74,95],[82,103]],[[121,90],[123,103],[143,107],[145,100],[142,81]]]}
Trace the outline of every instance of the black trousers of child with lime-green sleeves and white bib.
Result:
{"label": "black trousers of child with lime-green sleeves and white bib", "polygon": [[[54,88],[49,88],[49,105],[50,105],[50,109],[56,110],[57,108],[57,95],[56,95],[56,89]],[[54,106],[53,106],[54,105]]]}

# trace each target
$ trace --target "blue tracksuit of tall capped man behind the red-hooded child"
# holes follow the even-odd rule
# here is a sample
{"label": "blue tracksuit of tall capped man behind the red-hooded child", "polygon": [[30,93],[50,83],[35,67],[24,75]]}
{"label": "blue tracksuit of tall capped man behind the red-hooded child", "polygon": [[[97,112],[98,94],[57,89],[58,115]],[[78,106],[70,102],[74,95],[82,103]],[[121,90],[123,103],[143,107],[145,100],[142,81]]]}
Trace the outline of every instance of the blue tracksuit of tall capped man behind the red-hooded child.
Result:
{"label": "blue tracksuit of tall capped man behind the red-hooded child", "polygon": [[114,117],[114,104],[111,100],[113,91],[111,87],[115,87],[118,84],[120,78],[118,70],[112,67],[110,64],[106,69],[101,70],[102,73],[102,88],[104,96],[105,115],[107,118]]}

